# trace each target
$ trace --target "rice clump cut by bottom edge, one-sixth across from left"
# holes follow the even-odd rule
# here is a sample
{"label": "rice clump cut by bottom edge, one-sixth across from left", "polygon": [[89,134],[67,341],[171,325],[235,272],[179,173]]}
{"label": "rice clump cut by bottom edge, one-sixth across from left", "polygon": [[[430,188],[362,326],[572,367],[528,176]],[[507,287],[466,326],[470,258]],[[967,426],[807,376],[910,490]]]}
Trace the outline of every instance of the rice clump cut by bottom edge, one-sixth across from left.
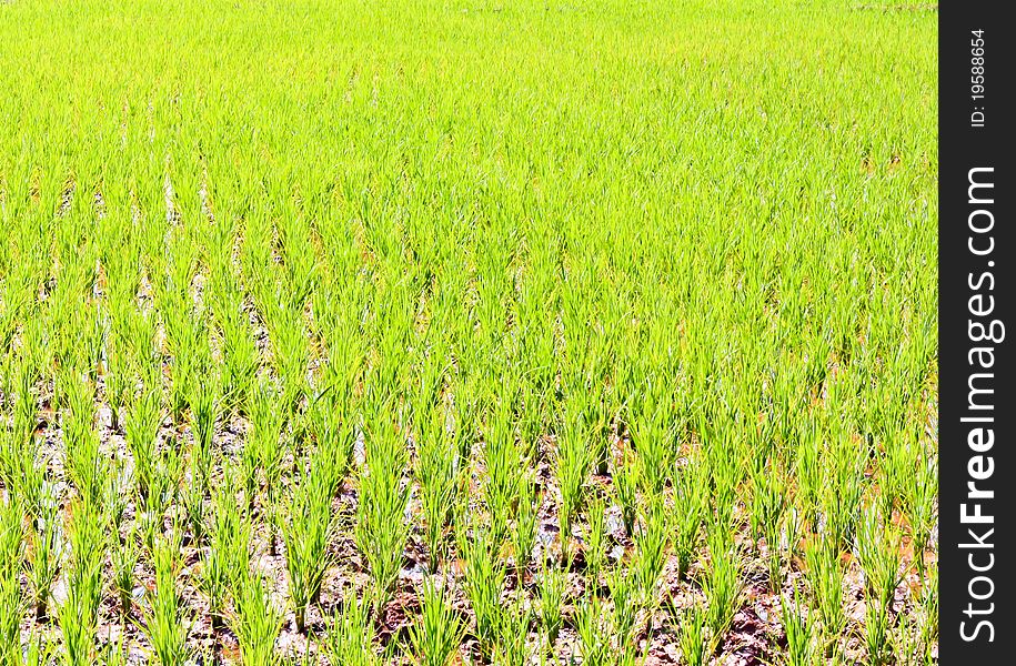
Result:
{"label": "rice clump cut by bottom edge, one-sixth across from left", "polygon": [[190,656],[188,620],[181,607],[178,579],[180,544],[174,537],[160,539],[152,552],[155,586],[148,594],[144,634],[152,656],[162,666],[182,666]]}

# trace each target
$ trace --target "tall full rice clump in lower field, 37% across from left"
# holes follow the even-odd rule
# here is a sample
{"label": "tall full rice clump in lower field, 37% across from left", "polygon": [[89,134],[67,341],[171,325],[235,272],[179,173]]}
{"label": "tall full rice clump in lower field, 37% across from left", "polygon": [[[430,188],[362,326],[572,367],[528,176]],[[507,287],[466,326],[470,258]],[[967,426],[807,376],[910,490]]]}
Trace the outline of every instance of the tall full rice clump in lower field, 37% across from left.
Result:
{"label": "tall full rice clump in lower field, 37% across from left", "polygon": [[390,424],[382,422],[378,431],[369,433],[354,536],[371,569],[375,610],[389,601],[409,536],[410,486],[403,482],[406,458],[405,444]]}

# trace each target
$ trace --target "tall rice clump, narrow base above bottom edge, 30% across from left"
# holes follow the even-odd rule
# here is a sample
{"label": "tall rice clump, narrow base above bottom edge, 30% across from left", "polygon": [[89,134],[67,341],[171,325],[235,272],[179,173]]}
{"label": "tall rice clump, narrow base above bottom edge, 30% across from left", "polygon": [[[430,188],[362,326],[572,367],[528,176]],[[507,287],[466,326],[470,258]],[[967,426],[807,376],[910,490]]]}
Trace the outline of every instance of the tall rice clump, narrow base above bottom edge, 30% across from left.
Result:
{"label": "tall rice clump, narrow base above bottom edge, 30% across from left", "polygon": [[285,566],[296,630],[305,630],[308,605],[318,601],[324,573],[332,563],[328,553],[335,532],[332,487],[328,467],[316,461],[302,475],[292,493],[289,519],[283,523]]}

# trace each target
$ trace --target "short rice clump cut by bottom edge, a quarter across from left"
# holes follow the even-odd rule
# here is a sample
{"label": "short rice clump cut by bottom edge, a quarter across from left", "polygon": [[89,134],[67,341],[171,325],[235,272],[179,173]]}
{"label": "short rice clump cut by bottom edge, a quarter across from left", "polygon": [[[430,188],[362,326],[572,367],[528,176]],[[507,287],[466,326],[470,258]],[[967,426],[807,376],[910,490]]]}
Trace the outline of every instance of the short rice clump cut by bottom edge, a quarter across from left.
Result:
{"label": "short rice clump cut by bottom edge, a quarter across from left", "polygon": [[282,630],[282,612],[269,596],[264,577],[244,568],[232,585],[233,612],[228,624],[240,644],[240,659],[250,666],[280,664],[275,639]]}

